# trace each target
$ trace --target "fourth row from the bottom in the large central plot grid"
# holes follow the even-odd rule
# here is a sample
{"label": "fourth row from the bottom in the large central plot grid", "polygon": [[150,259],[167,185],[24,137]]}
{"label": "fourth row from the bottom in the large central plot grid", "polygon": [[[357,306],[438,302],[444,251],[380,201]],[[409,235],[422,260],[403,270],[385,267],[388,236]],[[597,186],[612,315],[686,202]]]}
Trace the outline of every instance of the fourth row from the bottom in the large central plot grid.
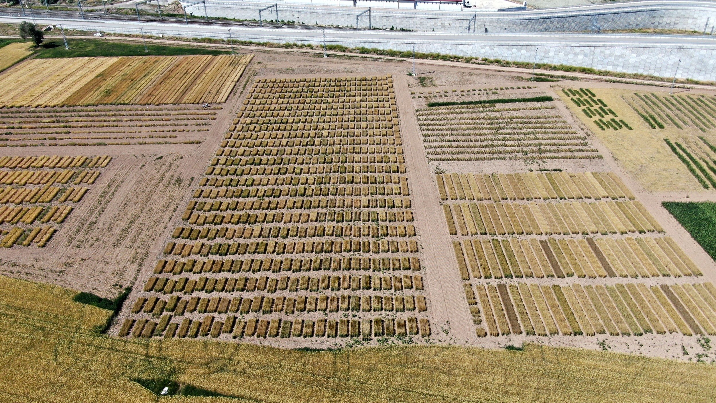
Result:
{"label": "fourth row from the bottom in the large central plot grid", "polygon": [[415,257],[367,257],[367,256],[332,256],[332,257],[284,257],[243,260],[193,260],[185,261],[161,259],[154,267],[154,274],[183,272],[310,272],[310,271],[420,271],[420,260]]}

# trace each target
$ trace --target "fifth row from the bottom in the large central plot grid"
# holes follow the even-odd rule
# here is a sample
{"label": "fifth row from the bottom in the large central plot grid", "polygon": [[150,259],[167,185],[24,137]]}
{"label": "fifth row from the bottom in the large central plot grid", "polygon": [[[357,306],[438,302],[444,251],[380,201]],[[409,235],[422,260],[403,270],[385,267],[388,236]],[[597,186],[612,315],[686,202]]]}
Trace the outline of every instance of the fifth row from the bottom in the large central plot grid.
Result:
{"label": "fifth row from the bottom in the large central plot grid", "polygon": [[284,255],[300,253],[417,253],[414,240],[316,240],[316,241],[260,241],[260,242],[168,242],[165,255]]}

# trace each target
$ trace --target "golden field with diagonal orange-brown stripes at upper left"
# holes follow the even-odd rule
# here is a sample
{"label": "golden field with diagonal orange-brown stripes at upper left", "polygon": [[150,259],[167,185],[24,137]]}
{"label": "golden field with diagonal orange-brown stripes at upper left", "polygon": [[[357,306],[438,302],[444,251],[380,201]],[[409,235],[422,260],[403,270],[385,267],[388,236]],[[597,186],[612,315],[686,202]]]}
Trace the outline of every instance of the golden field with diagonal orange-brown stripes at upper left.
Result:
{"label": "golden field with diagonal orange-brown stripes at upper left", "polygon": [[0,105],[225,102],[252,55],[30,60],[0,77]]}

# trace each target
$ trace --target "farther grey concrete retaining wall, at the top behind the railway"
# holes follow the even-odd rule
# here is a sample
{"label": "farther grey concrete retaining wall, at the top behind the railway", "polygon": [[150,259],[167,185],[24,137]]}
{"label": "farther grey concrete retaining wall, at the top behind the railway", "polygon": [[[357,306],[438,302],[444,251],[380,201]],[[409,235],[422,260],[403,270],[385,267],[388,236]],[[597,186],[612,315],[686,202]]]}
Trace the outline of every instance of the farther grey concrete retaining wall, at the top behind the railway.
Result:
{"label": "farther grey concrete retaining wall, at the top behind the railway", "polygon": [[[410,2],[412,3],[412,1]],[[184,3],[184,4],[188,4]],[[258,10],[269,3],[236,0],[206,0],[209,16],[259,19]],[[355,7],[299,6],[278,4],[279,21],[325,26],[356,27],[356,17],[367,9]],[[188,6],[187,12],[204,16],[204,5]],[[264,21],[276,20],[274,8],[263,11]],[[713,32],[716,4],[671,4],[646,1],[638,6],[576,7],[554,11],[416,11],[371,9],[360,16],[358,26],[379,29],[408,29],[420,32],[598,32],[613,29],[682,29]]]}

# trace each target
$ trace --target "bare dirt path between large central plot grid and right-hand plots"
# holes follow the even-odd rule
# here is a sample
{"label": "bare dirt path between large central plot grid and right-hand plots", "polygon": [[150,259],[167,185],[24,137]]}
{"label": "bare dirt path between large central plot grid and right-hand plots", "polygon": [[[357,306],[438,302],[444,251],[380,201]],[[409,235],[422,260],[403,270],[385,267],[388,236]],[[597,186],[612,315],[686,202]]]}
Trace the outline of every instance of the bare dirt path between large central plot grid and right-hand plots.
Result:
{"label": "bare dirt path between large central plot grid and right-hand plots", "polygon": [[465,302],[458,263],[450,245],[448,224],[442,216],[440,196],[432,179],[434,174],[427,165],[405,77],[395,78],[395,101],[400,113],[400,132],[408,166],[407,176],[412,187],[416,224],[422,241],[422,260],[426,271],[426,288],[432,301],[435,333],[438,327],[442,327],[449,331],[451,341],[469,343],[476,338],[472,332],[472,318]]}

